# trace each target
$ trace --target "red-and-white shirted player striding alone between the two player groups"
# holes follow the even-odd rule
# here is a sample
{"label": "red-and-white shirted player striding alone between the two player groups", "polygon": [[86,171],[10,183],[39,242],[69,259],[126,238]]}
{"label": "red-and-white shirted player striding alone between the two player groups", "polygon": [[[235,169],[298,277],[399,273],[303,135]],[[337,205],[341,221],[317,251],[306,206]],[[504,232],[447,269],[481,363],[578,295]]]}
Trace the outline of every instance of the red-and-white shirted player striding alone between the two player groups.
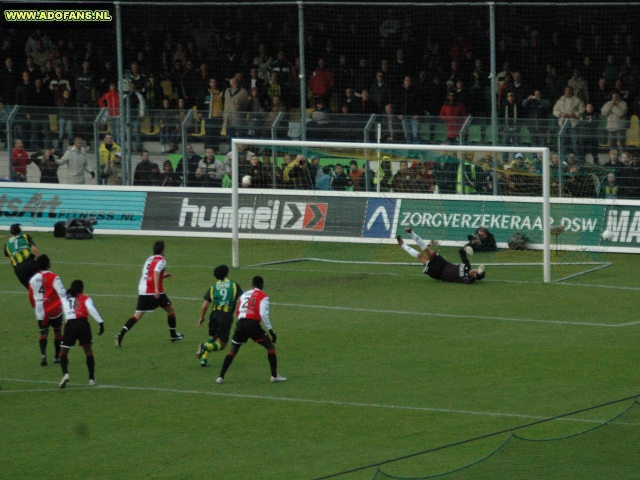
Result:
{"label": "red-and-white shirted player striding alone between the two player groups", "polygon": [[164,293],[163,280],[171,278],[170,273],[166,273],[167,261],[164,259],[164,242],[158,240],[153,244],[153,256],[149,257],[142,267],[142,277],[138,284],[138,306],[127,323],[122,327],[120,333],[116,335],[116,347],[122,346],[122,339],[125,334],[142,318],[146,312],[153,312],[161,307],[167,312],[169,323],[169,333],[171,341],[182,340],[184,335],[176,333],[176,311],[167,294]]}

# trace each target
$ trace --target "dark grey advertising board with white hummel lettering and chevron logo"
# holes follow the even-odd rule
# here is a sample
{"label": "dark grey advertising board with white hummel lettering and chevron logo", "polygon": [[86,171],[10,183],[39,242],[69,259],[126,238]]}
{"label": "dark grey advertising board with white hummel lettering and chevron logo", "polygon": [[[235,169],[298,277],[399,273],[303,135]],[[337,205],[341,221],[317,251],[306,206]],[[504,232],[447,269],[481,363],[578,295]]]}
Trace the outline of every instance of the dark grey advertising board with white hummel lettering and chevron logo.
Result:
{"label": "dark grey advertising board with white hummel lettering and chevron logo", "polygon": [[[143,230],[230,232],[231,195],[147,194]],[[241,233],[361,237],[366,198],[240,195]]]}

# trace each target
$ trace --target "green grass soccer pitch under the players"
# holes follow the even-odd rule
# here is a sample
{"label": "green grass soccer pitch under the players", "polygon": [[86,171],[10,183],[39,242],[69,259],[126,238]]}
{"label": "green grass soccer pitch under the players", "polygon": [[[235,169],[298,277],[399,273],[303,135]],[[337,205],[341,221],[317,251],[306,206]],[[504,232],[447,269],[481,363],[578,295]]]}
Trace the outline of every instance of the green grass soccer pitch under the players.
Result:
{"label": "green grass soccer pitch under the players", "polygon": [[[5,262],[5,478],[311,479],[640,393],[640,259],[634,255],[605,255],[611,267],[562,284],[541,283],[541,267],[493,267],[470,286],[436,282],[418,266],[299,262],[231,269],[245,290],[254,275],[264,277],[278,371],[289,380],[271,383],[265,350],[248,344],[218,385],[227,350],[212,353],[211,366],[201,368],[195,352],[207,330],[196,324],[213,268],[231,264],[230,240],[163,238],[173,274],[165,288],[185,339],[169,341],[166,314],[158,310],[117,349],[114,335],[135,309],[141,268],[156,238],[34,238],[66,287],[85,282],[106,331],[98,337],[91,321],[98,387],[88,386],[84,354],[75,348],[71,382],[60,390],[52,334],[43,368],[33,310]],[[245,251],[260,248],[258,241],[241,242]],[[444,252],[455,259],[453,250]],[[564,436],[608,418],[594,412],[549,422],[538,433]],[[503,441],[445,449],[383,470],[399,477],[447,472]]]}

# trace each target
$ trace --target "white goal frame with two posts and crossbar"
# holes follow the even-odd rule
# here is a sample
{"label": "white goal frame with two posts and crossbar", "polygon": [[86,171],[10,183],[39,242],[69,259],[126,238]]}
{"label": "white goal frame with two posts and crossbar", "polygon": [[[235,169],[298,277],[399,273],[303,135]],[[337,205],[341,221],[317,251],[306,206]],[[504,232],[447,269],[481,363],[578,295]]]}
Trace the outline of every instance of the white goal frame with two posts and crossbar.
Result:
{"label": "white goal frame with two posts and crossbar", "polygon": [[[234,138],[231,141],[232,176],[231,176],[231,223],[232,223],[232,262],[233,267],[240,266],[240,234],[239,234],[239,179],[238,145],[259,145],[262,147],[309,147],[309,148],[353,148],[358,150],[413,150],[413,151],[442,151],[442,145],[413,145],[413,144],[380,144],[353,142],[319,142],[302,140],[258,140],[248,138]],[[486,146],[458,146],[448,147],[456,152],[489,152],[489,153],[542,153],[542,219],[543,219],[543,278],[545,283],[551,282],[551,187],[549,168],[549,149],[547,147],[486,147]],[[438,195],[438,194],[430,194]]]}

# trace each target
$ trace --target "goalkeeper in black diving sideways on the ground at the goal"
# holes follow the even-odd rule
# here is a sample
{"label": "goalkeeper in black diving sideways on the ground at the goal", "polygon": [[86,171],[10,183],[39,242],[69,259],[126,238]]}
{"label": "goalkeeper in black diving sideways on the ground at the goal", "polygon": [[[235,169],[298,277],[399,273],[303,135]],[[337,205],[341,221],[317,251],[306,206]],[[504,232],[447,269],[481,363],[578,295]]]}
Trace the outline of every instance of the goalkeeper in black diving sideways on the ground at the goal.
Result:
{"label": "goalkeeper in black diving sideways on the ground at the goal", "polygon": [[397,237],[398,244],[405,252],[423,263],[423,273],[426,273],[431,278],[442,280],[443,282],[464,283],[468,285],[476,280],[482,280],[485,277],[484,265],[480,265],[477,269],[471,269],[471,263],[469,263],[469,259],[467,258],[467,255],[473,255],[473,249],[471,247],[463,247],[459,250],[462,263],[450,263],[441,257],[439,253],[431,250],[427,242],[414,233],[411,228],[405,228],[405,232],[413,237],[426,255],[404,243],[402,235],[398,235]]}

